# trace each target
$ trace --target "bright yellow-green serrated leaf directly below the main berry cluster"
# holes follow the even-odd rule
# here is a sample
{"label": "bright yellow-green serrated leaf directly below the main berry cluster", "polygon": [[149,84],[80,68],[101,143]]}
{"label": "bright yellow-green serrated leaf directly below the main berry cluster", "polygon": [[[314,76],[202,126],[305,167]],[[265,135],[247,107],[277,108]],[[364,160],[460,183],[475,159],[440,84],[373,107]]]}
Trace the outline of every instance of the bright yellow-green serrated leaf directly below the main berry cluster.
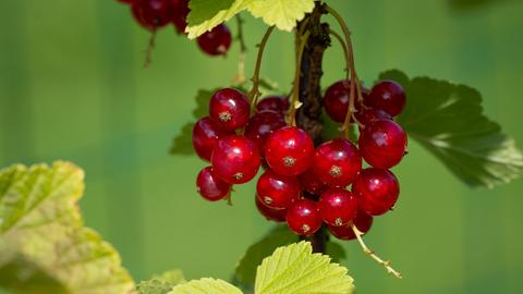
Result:
{"label": "bright yellow-green serrated leaf directly below the main berry cluster", "polygon": [[256,294],[353,293],[353,279],[330,258],[313,254],[308,242],[280,247],[256,273]]}

